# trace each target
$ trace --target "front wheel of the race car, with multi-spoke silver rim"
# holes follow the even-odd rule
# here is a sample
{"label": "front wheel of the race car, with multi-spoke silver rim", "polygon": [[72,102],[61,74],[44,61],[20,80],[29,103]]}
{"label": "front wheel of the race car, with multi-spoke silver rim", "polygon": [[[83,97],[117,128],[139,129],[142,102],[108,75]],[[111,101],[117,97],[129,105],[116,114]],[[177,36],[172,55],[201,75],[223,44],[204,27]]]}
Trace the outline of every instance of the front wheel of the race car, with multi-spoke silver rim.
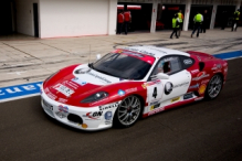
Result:
{"label": "front wheel of the race car, with multi-spoke silver rim", "polygon": [[135,96],[127,96],[118,106],[114,116],[114,126],[118,128],[128,128],[139,118],[141,112],[141,101]]}

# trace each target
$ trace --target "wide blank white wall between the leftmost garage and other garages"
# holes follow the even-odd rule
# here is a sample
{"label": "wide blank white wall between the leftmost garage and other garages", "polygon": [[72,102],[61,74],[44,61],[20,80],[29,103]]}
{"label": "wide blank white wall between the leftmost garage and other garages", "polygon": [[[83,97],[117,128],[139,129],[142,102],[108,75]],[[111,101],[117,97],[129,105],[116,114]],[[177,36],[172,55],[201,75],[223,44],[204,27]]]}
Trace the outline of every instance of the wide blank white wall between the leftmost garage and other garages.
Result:
{"label": "wide blank white wall between the leftmost garage and other garages", "polygon": [[40,0],[40,37],[114,34],[114,3],[117,0]]}

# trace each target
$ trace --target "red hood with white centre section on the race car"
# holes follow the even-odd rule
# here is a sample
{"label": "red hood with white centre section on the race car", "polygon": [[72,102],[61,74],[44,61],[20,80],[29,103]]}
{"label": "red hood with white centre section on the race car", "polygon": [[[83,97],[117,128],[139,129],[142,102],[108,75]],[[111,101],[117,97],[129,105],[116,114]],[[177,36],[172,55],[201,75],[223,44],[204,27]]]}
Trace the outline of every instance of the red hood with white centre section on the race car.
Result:
{"label": "red hood with white centre section on the race car", "polygon": [[[44,82],[44,93],[59,103],[81,106],[84,98],[126,79],[113,77],[84,65],[72,65],[61,69]],[[84,105],[88,106],[88,105]]]}

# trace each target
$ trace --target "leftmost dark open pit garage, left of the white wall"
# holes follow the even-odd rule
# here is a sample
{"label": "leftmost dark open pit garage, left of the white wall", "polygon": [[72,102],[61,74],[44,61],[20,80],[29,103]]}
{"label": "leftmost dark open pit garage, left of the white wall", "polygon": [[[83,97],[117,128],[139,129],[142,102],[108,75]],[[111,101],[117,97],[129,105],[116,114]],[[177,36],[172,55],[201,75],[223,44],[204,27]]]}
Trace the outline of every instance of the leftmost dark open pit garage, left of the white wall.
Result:
{"label": "leftmost dark open pit garage, left of the white wall", "polygon": [[39,0],[1,0],[0,37],[39,36]]}

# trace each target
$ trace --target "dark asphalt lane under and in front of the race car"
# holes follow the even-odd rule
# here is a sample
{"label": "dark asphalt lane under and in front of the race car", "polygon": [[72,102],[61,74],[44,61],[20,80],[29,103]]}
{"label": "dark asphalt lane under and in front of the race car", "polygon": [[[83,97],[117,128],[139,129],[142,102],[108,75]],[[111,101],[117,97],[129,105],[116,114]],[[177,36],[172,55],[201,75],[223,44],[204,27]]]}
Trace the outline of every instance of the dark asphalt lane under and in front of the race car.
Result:
{"label": "dark asphalt lane under and in front of the race car", "polygon": [[242,58],[230,60],[227,84],[198,101],[127,129],[80,131],[51,119],[40,96],[0,104],[1,160],[241,160]]}

